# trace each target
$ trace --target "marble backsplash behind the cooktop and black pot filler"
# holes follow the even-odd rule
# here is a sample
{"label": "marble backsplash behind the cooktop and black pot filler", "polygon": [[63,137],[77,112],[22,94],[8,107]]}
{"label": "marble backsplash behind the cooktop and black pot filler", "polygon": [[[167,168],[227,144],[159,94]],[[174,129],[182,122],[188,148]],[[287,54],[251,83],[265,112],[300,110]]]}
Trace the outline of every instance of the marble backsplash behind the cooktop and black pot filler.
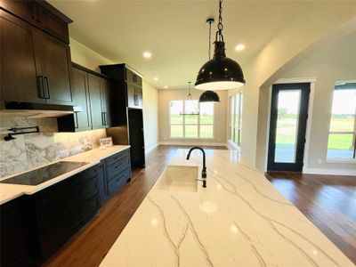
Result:
{"label": "marble backsplash behind the cooktop and black pot filler", "polygon": [[[15,135],[5,142],[6,129],[38,125],[40,133]],[[56,133],[56,118],[0,117],[0,177],[42,166],[99,147],[105,129]]]}

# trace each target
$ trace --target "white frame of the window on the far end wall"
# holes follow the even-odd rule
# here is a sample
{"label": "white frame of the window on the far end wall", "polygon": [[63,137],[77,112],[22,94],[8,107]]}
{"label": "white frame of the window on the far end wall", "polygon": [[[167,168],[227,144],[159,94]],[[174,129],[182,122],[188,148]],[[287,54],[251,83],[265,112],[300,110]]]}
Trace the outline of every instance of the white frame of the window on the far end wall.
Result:
{"label": "white frame of the window on the far end wall", "polygon": [[[171,100],[169,101],[169,138],[170,139],[202,139],[202,140],[214,140],[214,104],[212,104],[213,107],[213,123],[212,124],[201,124],[200,123],[200,114],[199,115],[193,115],[193,116],[197,116],[198,117],[198,121],[197,124],[190,124],[190,123],[186,123],[186,116],[187,115],[181,115],[182,116],[182,124],[172,124],[172,114],[171,114],[171,103],[172,101],[182,101],[182,111],[183,113],[185,113],[185,106],[186,106],[186,101],[190,101],[190,100]],[[192,100],[192,101],[198,101],[198,100]],[[200,103],[198,102],[198,109],[200,110]],[[182,137],[172,137],[172,125],[182,125]],[[197,137],[186,137],[186,126],[189,125],[197,125],[198,127],[198,136]],[[212,137],[200,137],[200,126],[201,125],[211,125],[213,126],[213,135]]]}

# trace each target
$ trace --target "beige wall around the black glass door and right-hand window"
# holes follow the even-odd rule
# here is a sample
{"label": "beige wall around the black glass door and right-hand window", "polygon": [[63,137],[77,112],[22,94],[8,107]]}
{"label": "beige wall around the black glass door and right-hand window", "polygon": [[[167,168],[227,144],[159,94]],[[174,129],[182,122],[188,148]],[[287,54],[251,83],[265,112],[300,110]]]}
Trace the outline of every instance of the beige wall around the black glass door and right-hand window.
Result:
{"label": "beige wall around the black glass door and right-hand window", "polygon": [[[306,172],[356,174],[355,163],[328,163],[328,129],[331,117],[332,97],[337,80],[356,79],[356,31],[342,40],[327,45],[308,59],[289,69],[280,78],[316,77],[311,124],[310,147],[306,148],[308,161],[304,162]],[[318,159],[322,163],[318,164]],[[351,174],[351,173],[350,173]]]}

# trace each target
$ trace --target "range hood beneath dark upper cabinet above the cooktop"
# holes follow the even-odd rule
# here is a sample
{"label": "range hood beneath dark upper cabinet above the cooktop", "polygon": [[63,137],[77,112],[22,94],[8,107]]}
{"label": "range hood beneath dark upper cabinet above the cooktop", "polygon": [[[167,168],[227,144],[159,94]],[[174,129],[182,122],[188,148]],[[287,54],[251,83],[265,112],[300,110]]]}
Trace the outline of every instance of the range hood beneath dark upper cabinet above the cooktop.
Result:
{"label": "range hood beneath dark upper cabinet above the cooktop", "polygon": [[0,117],[62,117],[77,111],[66,105],[0,101]]}

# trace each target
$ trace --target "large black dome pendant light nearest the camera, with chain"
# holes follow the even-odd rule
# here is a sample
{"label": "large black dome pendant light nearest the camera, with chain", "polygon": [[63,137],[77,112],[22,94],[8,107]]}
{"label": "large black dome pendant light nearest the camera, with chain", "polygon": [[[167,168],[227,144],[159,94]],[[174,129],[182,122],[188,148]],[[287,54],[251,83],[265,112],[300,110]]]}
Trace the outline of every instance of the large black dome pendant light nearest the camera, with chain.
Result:
{"label": "large black dome pendant light nearest the camera, with chain", "polygon": [[223,42],[223,0],[219,0],[219,23],[215,35],[214,57],[200,68],[195,83],[199,90],[228,90],[245,85],[239,63],[227,58]]}

